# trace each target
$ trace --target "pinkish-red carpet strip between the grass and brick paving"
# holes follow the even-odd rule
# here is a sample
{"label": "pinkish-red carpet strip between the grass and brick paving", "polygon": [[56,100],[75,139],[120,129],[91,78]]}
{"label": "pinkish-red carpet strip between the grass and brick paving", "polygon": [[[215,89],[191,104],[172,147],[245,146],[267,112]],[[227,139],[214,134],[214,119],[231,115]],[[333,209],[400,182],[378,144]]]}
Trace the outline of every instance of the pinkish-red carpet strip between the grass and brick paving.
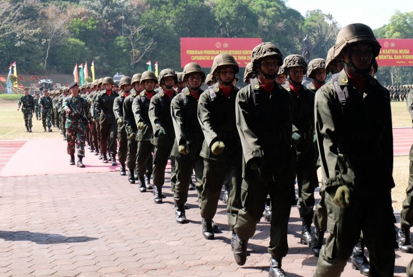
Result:
{"label": "pinkish-red carpet strip between the grass and brick paving", "polygon": [[[0,160],[6,161],[2,169],[0,167],[0,177],[119,170],[119,165],[111,166],[110,162],[103,163],[98,156],[89,152],[87,147],[85,148],[86,157],[83,158],[86,167],[69,165],[70,156],[66,152],[67,142],[65,140],[37,139],[23,143],[24,141],[0,141],[0,150],[5,152],[4,157],[0,156]],[[22,146],[18,148],[20,145]],[[11,156],[13,150],[15,153]]]}

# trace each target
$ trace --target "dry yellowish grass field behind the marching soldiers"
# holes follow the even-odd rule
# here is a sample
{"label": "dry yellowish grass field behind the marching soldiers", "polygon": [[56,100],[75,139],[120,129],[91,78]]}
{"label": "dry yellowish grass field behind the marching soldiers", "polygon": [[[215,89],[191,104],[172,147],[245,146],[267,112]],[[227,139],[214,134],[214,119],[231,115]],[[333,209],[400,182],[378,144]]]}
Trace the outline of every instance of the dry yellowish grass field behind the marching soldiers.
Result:
{"label": "dry yellowish grass field behind the marching soldiers", "polygon": [[[44,133],[41,121],[33,118],[33,133],[26,133],[21,111],[17,111],[17,100],[0,98],[0,140],[61,139],[60,131]],[[406,102],[392,102],[393,127],[411,127],[412,120],[407,112]],[[319,180],[321,180],[320,174]],[[409,156],[395,156],[393,177],[396,187],[392,190],[393,207],[400,210],[406,196],[409,178]]]}

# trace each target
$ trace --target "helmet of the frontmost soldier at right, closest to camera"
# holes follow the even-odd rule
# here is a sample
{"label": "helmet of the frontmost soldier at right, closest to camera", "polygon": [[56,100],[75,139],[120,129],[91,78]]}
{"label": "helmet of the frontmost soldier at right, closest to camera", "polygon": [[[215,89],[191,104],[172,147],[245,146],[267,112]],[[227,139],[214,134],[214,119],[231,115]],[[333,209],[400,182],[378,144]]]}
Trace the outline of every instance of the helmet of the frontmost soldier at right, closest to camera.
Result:
{"label": "helmet of the frontmost soldier at right, closest to camera", "polygon": [[363,23],[348,24],[337,34],[337,40],[334,45],[333,57],[338,58],[343,49],[352,43],[370,43],[373,48],[373,58],[377,57],[380,52],[380,43],[374,36],[373,30]]}

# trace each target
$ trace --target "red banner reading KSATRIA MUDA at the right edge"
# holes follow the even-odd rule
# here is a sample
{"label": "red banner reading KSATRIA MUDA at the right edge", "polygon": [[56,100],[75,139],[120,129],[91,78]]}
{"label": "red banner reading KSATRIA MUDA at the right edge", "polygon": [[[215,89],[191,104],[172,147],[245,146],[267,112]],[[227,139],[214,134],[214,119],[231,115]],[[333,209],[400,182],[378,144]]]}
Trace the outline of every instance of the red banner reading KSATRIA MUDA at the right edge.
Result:
{"label": "red banner reading KSATRIA MUDA at the right edge", "polygon": [[379,66],[413,66],[413,39],[377,39],[382,46]]}

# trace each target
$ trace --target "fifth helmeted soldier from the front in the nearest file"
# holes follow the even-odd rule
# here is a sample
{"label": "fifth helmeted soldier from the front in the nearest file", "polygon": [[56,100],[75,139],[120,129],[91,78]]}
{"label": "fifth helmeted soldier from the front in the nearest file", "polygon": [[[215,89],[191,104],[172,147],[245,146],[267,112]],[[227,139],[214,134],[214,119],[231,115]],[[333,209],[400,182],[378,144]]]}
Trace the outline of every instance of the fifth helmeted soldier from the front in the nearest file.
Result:
{"label": "fifth helmeted soldier from the front in the nearest file", "polygon": [[153,158],[153,200],[157,204],[162,203],[165,168],[175,141],[171,101],[177,95],[174,85],[178,83],[178,77],[173,69],[166,68],[159,73],[158,82],[158,93],[152,97],[149,105],[149,119],[153,129],[151,143],[155,148]]}

